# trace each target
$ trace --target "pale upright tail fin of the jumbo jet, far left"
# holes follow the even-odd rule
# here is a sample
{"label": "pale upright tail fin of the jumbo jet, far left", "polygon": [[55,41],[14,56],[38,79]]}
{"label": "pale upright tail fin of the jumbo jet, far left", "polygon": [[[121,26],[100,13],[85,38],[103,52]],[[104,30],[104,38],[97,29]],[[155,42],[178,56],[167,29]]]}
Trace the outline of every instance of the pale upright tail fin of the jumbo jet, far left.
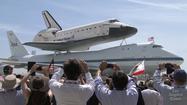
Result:
{"label": "pale upright tail fin of the jumbo jet, far left", "polygon": [[16,35],[14,34],[13,31],[8,31],[7,37],[8,37],[8,41],[9,41],[11,57],[19,58],[19,57],[23,57],[25,55],[29,55],[28,51],[21,44],[21,42],[16,37]]}

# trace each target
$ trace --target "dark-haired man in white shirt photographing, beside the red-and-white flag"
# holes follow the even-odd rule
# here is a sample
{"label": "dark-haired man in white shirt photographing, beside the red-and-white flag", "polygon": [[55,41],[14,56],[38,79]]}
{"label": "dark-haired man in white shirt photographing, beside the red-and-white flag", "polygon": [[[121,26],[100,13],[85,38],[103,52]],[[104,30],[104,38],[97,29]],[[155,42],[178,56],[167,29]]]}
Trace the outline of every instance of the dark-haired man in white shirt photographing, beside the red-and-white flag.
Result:
{"label": "dark-haired man in white shirt photographing, beside the red-and-white flag", "polygon": [[95,93],[102,105],[137,105],[138,91],[132,78],[113,65],[112,84],[113,90],[103,84],[101,74],[107,69],[107,62],[103,61],[96,73]]}

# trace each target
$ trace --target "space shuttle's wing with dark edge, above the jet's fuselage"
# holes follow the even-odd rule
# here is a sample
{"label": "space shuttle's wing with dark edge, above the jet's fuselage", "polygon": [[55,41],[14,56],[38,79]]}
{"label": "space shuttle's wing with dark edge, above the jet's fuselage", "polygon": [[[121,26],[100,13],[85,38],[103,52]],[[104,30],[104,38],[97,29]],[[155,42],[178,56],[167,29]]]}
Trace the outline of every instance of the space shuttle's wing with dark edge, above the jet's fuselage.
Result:
{"label": "space shuttle's wing with dark edge, above the jet's fuselage", "polygon": [[96,40],[103,40],[102,37],[83,39],[83,40],[74,40],[68,42],[26,42],[23,45],[36,47],[42,50],[48,51],[82,51],[88,50],[90,46],[98,44]]}

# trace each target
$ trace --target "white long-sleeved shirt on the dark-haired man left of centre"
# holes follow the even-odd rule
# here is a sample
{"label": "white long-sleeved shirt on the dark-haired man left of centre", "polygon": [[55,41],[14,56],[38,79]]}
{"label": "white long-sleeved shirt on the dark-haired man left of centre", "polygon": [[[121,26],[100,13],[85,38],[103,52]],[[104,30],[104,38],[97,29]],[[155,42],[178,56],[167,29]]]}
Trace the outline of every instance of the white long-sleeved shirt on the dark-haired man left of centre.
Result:
{"label": "white long-sleeved shirt on the dark-haired man left of centre", "polygon": [[78,81],[59,80],[63,74],[62,70],[56,72],[49,81],[49,87],[55,95],[57,105],[86,105],[88,99],[94,93],[93,78],[90,73],[86,73],[86,84],[81,85]]}

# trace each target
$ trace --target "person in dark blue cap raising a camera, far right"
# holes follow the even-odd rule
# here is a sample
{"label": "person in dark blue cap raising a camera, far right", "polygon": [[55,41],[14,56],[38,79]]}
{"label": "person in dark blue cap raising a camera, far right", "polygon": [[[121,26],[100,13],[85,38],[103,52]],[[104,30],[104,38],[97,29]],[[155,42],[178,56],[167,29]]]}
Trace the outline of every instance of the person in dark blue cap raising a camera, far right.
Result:
{"label": "person in dark blue cap raising a camera, far right", "polygon": [[171,73],[173,85],[169,86],[161,81],[161,70],[165,70],[165,64],[160,64],[154,73],[154,88],[163,96],[164,105],[185,105],[187,100],[187,74],[178,65],[172,64]]}

